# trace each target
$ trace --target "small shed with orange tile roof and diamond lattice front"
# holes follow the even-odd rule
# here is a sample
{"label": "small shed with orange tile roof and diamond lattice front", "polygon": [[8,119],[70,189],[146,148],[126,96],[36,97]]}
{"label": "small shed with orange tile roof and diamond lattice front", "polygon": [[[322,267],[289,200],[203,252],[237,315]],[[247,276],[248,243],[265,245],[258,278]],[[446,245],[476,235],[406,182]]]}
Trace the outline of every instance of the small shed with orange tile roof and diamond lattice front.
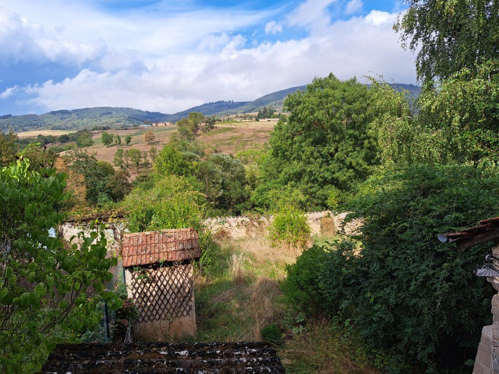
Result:
{"label": "small shed with orange tile roof and diamond lattice front", "polygon": [[139,311],[135,340],[166,341],[196,333],[193,261],[200,257],[193,228],[123,235],[125,284]]}

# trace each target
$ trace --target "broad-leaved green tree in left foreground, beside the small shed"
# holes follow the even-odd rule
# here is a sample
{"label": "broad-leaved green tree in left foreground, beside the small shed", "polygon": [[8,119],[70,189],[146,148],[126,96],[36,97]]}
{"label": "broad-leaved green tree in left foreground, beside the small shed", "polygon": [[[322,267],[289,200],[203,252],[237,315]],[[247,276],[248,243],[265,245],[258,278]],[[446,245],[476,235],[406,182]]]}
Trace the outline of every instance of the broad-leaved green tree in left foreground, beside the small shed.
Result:
{"label": "broad-leaved green tree in left foreground, beside the small shed", "polygon": [[119,306],[104,289],[117,260],[103,233],[78,234],[80,250],[49,235],[64,219],[64,186],[64,174],[30,171],[27,159],[0,170],[1,372],[37,372],[55,344],[98,326],[100,301]]}

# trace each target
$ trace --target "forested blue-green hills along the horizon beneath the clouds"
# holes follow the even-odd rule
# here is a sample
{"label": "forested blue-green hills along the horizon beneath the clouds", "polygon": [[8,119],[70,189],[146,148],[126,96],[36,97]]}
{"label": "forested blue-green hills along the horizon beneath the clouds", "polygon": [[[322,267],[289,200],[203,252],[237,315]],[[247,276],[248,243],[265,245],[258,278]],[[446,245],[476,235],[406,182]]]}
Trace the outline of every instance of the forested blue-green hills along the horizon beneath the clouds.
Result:
{"label": "forested blue-green hills along the horizon beneath the clouds", "polygon": [[[413,84],[391,84],[395,89],[404,89],[409,92],[411,99],[415,99],[421,92],[421,87]],[[306,85],[296,86],[272,92],[253,101],[215,101],[199,105],[174,114],[148,112],[133,108],[95,107],[73,110],[56,110],[41,115],[25,114],[21,116],[0,116],[0,131],[14,132],[29,130],[79,130],[91,129],[95,126],[131,127],[138,126],[144,120],[152,122],[176,122],[187,117],[190,112],[201,112],[204,115],[212,114],[239,114],[257,112],[264,106],[282,110],[282,103],[287,95],[304,90]]]}

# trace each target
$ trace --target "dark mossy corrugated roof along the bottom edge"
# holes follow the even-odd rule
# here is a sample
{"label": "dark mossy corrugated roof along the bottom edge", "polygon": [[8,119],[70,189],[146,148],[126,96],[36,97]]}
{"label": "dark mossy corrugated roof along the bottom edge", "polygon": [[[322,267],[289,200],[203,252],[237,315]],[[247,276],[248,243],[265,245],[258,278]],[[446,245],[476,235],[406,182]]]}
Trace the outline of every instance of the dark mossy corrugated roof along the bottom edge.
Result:
{"label": "dark mossy corrugated roof along the bottom edge", "polygon": [[41,374],[284,374],[264,343],[59,344]]}

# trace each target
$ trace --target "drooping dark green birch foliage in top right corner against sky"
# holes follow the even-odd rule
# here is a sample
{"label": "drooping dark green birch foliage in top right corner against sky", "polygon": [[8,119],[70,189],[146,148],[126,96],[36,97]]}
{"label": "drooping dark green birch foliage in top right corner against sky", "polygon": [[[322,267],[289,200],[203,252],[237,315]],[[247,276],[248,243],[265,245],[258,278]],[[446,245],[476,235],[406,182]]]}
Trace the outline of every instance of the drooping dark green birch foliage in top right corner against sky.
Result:
{"label": "drooping dark green birch foliage in top right corner against sky", "polygon": [[420,79],[445,79],[499,59],[499,1],[406,0],[395,30],[402,46],[417,51]]}

